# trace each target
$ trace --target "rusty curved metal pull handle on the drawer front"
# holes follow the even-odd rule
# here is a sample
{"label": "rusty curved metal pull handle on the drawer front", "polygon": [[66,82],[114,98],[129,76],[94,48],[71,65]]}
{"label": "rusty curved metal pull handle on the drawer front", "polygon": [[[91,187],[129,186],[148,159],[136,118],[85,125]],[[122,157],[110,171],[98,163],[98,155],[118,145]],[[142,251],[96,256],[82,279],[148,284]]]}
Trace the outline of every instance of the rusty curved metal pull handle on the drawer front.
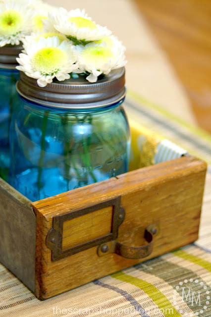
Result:
{"label": "rusty curved metal pull handle on the drawer front", "polygon": [[148,257],[153,251],[154,236],[158,233],[158,225],[153,224],[146,228],[145,239],[147,245],[141,247],[129,247],[118,241],[110,241],[98,247],[98,256],[115,253],[126,259],[142,259]]}

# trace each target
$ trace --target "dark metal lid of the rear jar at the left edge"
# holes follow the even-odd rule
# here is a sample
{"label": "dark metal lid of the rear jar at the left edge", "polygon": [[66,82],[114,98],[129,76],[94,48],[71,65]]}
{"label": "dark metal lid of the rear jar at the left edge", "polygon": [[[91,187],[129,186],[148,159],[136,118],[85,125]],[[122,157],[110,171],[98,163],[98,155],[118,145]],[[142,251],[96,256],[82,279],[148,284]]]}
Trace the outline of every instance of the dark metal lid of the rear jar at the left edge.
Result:
{"label": "dark metal lid of the rear jar at the left edge", "polygon": [[22,45],[6,45],[0,48],[0,68],[15,69],[16,57],[23,50]]}

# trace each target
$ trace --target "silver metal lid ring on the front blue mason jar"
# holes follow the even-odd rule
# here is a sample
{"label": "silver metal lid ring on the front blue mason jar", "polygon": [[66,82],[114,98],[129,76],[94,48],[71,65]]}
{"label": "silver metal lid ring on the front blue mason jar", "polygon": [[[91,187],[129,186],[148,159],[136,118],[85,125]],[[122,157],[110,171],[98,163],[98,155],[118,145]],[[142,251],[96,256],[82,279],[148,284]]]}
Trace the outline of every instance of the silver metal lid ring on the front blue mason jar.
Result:
{"label": "silver metal lid ring on the front blue mason jar", "polygon": [[118,103],[126,93],[125,69],[112,70],[96,83],[90,83],[86,76],[53,83],[41,88],[37,80],[20,71],[16,88],[25,99],[56,108],[88,109],[99,108]]}

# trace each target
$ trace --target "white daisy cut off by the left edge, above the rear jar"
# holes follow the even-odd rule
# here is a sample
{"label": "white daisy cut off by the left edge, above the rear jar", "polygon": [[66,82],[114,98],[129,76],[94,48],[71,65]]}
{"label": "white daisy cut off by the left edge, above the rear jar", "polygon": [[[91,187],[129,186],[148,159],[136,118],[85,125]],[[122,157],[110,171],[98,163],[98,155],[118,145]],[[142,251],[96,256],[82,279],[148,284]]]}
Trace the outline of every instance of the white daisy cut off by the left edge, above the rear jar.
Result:
{"label": "white daisy cut off by the left edge, above the rear jar", "polygon": [[23,38],[32,31],[31,17],[33,7],[15,0],[0,2],[0,47],[11,44],[19,45]]}

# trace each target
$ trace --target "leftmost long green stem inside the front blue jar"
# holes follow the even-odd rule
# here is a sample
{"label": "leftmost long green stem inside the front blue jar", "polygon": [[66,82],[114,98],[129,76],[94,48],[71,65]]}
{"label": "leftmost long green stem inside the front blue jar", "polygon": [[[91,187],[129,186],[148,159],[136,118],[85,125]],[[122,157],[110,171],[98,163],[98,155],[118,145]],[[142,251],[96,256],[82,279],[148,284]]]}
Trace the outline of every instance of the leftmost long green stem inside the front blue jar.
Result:
{"label": "leftmost long green stem inside the front blue jar", "polygon": [[40,191],[41,188],[43,187],[41,178],[43,173],[43,165],[44,165],[44,157],[45,157],[45,138],[46,138],[47,123],[48,123],[48,111],[45,111],[43,124],[42,124],[41,152],[40,152],[40,159],[38,163],[38,179],[37,179],[38,191]]}

